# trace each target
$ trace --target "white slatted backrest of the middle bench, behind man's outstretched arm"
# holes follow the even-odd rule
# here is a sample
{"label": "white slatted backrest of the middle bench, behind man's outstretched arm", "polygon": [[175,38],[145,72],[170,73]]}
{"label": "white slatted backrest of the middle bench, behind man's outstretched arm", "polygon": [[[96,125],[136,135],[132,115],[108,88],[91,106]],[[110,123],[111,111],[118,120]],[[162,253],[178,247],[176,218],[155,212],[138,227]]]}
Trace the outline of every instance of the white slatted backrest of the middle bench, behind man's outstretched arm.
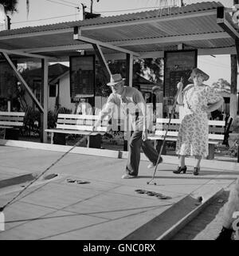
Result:
{"label": "white slatted backrest of the middle bench, behind man's outstretched arm", "polygon": [[[98,120],[98,116],[96,115],[58,114],[57,129],[91,132],[96,120]],[[106,117],[101,121],[96,131],[108,132],[108,130],[108,117]]]}

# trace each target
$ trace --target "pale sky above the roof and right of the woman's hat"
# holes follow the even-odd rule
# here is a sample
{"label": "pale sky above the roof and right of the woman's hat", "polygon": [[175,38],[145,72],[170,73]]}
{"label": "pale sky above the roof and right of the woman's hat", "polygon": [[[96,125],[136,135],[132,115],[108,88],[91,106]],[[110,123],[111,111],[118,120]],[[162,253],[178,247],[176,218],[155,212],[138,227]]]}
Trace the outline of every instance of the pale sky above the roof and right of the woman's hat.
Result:
{"label": "pale sky above the roof and right of the woman's hat", "polygon": [[[100,13],[102,17],[129,14],[159,8],[159,2],[172,2],[178,0],[93,0],[93,12]],[[184,0],[186,4],[205,2],[201,0]],[[207,1],[214,2],[214,1]],[[215,0],[226,7],[233,6],[233,0]],[[80,18],[82,4],[90,11],[91,0],[29,0],[29,14],[26,11],[26,1],[18,0],[18,13],[11,16],[11,29],[25,26],[41,26],[58,22],[76,21]],[[82,10],[82,9],[81,9]],[[208,85],[223,78],[230,83],[230,57],[229,55],[198,56],[198,68],[210,75]]]}

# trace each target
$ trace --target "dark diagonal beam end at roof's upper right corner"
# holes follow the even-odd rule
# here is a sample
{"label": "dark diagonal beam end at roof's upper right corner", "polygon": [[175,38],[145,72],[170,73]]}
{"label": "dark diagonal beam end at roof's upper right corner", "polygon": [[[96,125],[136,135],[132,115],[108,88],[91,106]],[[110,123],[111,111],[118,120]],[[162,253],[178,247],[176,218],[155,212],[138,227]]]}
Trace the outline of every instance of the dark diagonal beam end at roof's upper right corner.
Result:
{"label": "dark diagonal beam end at roof's upper right corner", "polygon": [[228,22],[226,16],[229,16],[229,14],[226,14],[224,6],[217,7],[217,24],[221,26],[230,37],[235,40],[239,39],[238,31]]}

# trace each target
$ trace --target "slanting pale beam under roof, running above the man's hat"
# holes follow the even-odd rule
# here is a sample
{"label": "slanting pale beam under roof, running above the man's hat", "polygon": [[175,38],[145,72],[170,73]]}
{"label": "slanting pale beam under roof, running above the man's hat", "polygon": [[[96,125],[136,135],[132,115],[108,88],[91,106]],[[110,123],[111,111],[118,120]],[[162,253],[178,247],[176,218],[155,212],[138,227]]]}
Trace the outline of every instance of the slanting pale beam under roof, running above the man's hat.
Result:
{"label": "slanting pale beam under roof, running above the man's hat", "polygon": [[132,54],[136,57],[139,57],[139,55],[140,55],[139,53],[135,53],[135,52],[132,52],[130,50],[123,49],[121,47],[117,47],[117,46],[111,45],[109,43],[105,43],[103,41],[98,41],[98,40],[95,40],[95,39],[92,39],[92,38],[83,37],[83,36],[80,35],[80,31],[79,31],[79,28],[77,26],[74,28],[73,38],[74,38],[74,40],[85,41],[85,42],[90,43],[92,45],[100,45],[101,47],[105,47],[105,48],[108,48],[108,49],[114,49],[114,50],[122,52],[122,53],[129,53],[129,54]]}

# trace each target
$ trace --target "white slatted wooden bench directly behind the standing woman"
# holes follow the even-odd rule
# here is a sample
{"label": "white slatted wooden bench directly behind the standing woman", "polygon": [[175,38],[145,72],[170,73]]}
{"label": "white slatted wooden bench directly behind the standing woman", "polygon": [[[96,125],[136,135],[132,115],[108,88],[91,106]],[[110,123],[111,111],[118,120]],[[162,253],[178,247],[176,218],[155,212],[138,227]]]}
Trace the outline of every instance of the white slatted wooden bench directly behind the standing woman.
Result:
{"label": "white slatted wooden bench directly behind the standing woman", "polygon": [[[157,118],[154,134],[149,134],[150,140],[163,140],[166,134],[168,118]],[[178,129],[181,124],[179,119],[171,119],[167,132],[166,140],[176,141],[178,137]],[[214,159],[215,145],[222,143],[225,137],[225,121],[209,120],[209,156],[208,159]]]}

